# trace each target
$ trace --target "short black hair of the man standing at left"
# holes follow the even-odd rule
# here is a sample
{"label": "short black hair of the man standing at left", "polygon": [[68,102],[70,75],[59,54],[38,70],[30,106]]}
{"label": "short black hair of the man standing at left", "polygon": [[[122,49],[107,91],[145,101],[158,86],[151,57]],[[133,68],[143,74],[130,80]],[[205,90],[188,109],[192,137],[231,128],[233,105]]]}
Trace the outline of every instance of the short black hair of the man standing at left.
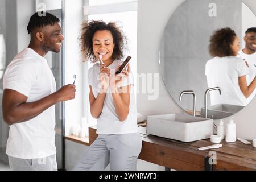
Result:
{"label": "short black hair of the man standing at left", "polygon": [[55,15],[48,12],[46,12],[45,15],[40,12],[36,12],[30,17],[30,22],[28,22],[27,26],[27,32],[28,34],[31,34],[34,28],[43,28],[47,25],[53,26],[56,22],[59,23],[60,19]]}

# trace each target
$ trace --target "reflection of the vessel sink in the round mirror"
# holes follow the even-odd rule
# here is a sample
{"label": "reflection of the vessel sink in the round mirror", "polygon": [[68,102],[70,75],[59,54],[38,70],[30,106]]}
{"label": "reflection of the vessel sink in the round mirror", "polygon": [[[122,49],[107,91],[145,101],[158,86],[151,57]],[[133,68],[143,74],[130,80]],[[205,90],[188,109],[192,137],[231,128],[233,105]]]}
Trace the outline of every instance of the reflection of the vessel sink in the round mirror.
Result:
{"label": "reflection of the vessel sink in the round mirror", "polygon": [[[222,119],[230,117],[238,113],[244,106],[230,105],[230,104],[216,104],[208,106],[207,117],[212,119]],[[201,117],[204,117],[204,107],[201,108]]]}

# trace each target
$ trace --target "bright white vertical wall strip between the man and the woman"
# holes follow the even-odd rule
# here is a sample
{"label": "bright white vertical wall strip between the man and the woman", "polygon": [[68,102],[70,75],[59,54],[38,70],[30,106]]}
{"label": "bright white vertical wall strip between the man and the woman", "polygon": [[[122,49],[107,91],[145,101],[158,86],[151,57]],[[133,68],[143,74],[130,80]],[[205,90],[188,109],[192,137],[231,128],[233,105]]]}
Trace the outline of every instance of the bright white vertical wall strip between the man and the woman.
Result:
{"label": "bright white vertical wall strip between the man and the woman", "polygon": [[[78,38],[82,23],[82,0],[65,1],[65,85],[73,84],[73,75],[76,74],[76,98],[65,102],[65,134],[71,134],[71,127],[80,124],[86,105],[86,83],[84,73],[87,64],[82,62],[79,51]],[[84,67],[84,68],[83,68]],[[78,108],[78,109],[75,109]],[[83,109],[84,110],[83,110]]]}

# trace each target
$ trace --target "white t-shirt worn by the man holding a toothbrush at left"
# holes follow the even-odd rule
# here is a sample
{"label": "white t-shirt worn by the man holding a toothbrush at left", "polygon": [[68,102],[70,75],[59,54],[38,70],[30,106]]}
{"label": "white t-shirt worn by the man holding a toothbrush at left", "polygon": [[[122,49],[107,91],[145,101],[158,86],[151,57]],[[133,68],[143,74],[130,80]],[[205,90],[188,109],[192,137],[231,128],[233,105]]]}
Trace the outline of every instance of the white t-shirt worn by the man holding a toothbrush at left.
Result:
{"label": "white t-shirt worn by the man holding a toothbrush at left", "polygon": [[[56,91],[55,78],[44,57],[26,48],[14,57],[3,76],[3,89],[38,101]],[[37,159],[56,154],[55,106],[26,122],[10,126],[6,154],[14,158]]]}

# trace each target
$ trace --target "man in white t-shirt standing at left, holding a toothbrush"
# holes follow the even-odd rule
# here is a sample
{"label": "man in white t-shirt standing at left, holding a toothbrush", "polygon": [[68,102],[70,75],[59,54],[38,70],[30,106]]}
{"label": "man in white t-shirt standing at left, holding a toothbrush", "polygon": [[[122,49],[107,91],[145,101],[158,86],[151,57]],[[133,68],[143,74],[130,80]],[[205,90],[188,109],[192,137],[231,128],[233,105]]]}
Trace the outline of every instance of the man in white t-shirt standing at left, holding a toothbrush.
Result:
{"label": "man in white t-shirt standing at left, holding a toothbrush", "polygon": [[57,170],[55,104],[75,98],[75,85],[56,91],[44,56],[60,52],[60,20],[49,13],[31,16],[30,44],[14,57],[3,76],[3,118],[10,125],[6,154],[13,170]]}

